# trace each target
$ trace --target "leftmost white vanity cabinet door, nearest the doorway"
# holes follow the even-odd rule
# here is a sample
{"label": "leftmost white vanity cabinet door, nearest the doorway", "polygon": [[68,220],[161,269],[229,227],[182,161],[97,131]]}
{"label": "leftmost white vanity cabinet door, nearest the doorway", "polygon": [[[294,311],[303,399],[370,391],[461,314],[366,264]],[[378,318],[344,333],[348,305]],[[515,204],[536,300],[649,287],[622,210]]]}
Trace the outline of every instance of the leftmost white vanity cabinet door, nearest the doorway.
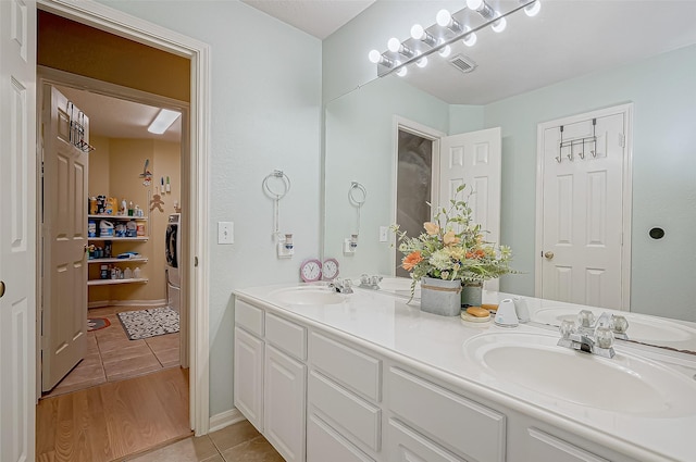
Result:
{"label": "leftmost white vanity cabinet door, nearest the doorway", "polygon": [[263,433],[263,340],[235,327],[235,407]]}

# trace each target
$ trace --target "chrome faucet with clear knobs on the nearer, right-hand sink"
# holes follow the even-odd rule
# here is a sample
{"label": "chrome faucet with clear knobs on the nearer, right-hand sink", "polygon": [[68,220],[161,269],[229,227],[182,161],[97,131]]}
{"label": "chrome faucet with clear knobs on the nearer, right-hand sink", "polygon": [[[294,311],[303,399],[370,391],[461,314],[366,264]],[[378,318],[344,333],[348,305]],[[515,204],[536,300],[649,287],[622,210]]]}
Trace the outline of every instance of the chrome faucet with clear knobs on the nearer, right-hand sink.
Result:
{"label": "chrome faucet with clear knobs on the nearer, right-hand sink", "polygon": [[627,338],[625,335],[629,322],[623,316],[602,313],[597,321],[589,310],[582,310],[577,320],[572,322],[564,320],[559,330],[561,338],[559,347],[597,354],[602,358],[613,358],[613,339]]}

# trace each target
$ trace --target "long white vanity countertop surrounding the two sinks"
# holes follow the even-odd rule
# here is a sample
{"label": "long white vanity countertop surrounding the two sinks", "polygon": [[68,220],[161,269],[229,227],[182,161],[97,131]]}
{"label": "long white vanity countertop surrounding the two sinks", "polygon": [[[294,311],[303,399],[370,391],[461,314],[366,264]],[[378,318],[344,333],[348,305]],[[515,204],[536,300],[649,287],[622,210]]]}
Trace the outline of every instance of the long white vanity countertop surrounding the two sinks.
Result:
{"label": "long white vanity countertop surrounding the two sinks", "polygon": [[[395,282],[398,283],[397,279]],[[532,333],[558,338],[559,334],[552,329],[532,325],[520,325],[511,329],[498,327],[493,322],[470,323],[459,316],[422,313],[418,301],[407,304],[407,298],[360,288],[343,296],[341,303],[328,305],[285,304],[270,296],[274,290],[293,286],[298,285],[252,287],[235,290],[235,295],[243,300],[261,303],[269,310],[283,312],[291,319],[319,325],[336,335],[348,336],[359,344],[376,347],[381,353],[406,361],[409,365],[463,390],[519,410],[634,459],[696,461],[696,412],[691,412],[691,408],[687,411],[676,409],[655,415],[642,412],[639,405],[636,405],[635,412],[616,412],[573,403],[511,380],[496,378],[485,367],[481,367],[464,348],[468,340],[484,333]],[[393,285],[386,280],[385,287]],[[509,294],[484,291],[483,301],[497,303],[508,297]],[[532,313],[549,308],[577,307],[529,297],[525,299]],[[686,326],[688,334],[692,328],[689,323],[681,324]],[[613,359],[593,359],[617,362],[630,360],[632,355],[661,359],[659,352],[654,353],[655,349],[646,352],[647,350],[633,348],[630,344],[618,344],[614,345],[617,355]],[[691,358],[666,358],[670,362],[667,373],[683,374],[685,377],[686,374],[696,373],[696,361],[692,363]],[[691,385],[687,383],[687,389],[691,389],[688,387]],[[696,380],[692,388],[693,396],[684,397],[684,400],[693,402],[693,408],[696,409]],[[597,389],[596,392],[621,396],[622,390]]]}

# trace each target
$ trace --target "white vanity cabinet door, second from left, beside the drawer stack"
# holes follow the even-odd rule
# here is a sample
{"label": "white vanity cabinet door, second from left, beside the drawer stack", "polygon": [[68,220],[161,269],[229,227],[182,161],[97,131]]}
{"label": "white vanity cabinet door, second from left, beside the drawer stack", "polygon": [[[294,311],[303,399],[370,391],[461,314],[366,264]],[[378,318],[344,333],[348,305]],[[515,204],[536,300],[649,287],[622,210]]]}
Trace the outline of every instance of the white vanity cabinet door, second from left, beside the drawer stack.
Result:
{"label": "white vanity cabinet door, second from left, beside the drawer stack", "polygon": [[304,461],[304,369],[302,363],[266,346],[264,436],[288,462]]}

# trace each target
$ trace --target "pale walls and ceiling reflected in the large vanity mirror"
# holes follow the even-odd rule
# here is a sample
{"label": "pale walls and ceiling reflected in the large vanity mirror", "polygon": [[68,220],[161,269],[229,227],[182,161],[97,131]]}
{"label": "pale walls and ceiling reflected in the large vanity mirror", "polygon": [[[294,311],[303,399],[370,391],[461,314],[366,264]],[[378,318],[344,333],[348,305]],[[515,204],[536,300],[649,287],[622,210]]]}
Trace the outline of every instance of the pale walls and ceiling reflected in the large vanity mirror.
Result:
{"label": "pale walls and ceiling reflected in the large vanity mirror", "polygon": [[[419,10],[420,3],[434,4]],[[446,135],[500,127],[500,244],[512,248],[513,266],[522,272],[502,277],[500,290],[534,296],[542,258],[536,250],[537,127],[630,104],[630,310],[696,322],[696,3],[546,1],[538,16],[518,12],[504,33],[481,30],[476,46],[453,48],[475,63],[469,74],[433,54],[426,67],[411,66],[403,78],[360,82],[370,72],[376,75],[366,51],[386,50],[386,40],[368,45],[365,36],[407,38],[407,23],[431,25],[433,11],[464,4],[377,2],[326,42],[325,55],[341,50],[362,61],[346,64],[350,68],[340,77],[325,70],[325,78],[334,80],[325,86],[349,88],[351,83],[336,82],[352,76],[352,87],[359,88],[326,98],[324,257],[339,259],[345,276],[396,274],[393,235],[381,241],[380,228],[396,220],[400,123]],[[410,16],[409,9],[414,10]],[[383,21],[389,15],[400,32],[368,32],[390,24]],[[346,255],[344,241],[358,226],[347,197],[351,182],[364,185],[366,197],[359,245]]]}

